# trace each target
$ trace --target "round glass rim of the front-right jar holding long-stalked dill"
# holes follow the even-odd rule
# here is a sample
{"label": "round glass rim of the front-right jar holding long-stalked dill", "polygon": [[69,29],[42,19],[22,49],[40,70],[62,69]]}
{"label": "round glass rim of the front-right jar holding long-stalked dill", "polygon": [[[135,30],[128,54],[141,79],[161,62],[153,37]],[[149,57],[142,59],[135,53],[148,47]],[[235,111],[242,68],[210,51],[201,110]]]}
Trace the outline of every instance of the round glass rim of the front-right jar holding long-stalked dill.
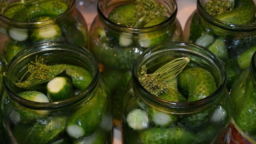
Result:
{"label": "round glass rim of the front-right jar holding long-stalked dill", "polygon": [[[155,63],[155,61],[159,61],[160,59],[168,59],[168,57],[170,60],[172,60],[174,57],[190,57],[190,61],[192,59],[200,58],[200,64],[197,66],[204,67],[207,65],[204,68],[212,69],[212,71],[214,71],[213,73],[216,73],[216,75],[214,75],[217,84],[217,89],[215,92],[204,99],[192,102],[166,101],[148,92],[139,82],[138,77],[140,75],[140,66],[147,64],[150,65]],[[195,63],[192,65],[195,65]],[[186,109],[186,111],[192,111],[202,107],[210,106],[216,99],[220,97],[220,93],[226,89],[227,83],[226,71],[223,61],[209,50],[201,46],[186,42],[167,42],[148,48],[135,61],[132,70],[132,78],[136,84],[135,89],[138,89],[138,91],[142,92],[140,96],[141,99],[149,101],[149,105],[152,105],[153,103],[153,105],[177,108],[178,111],[182,111],[184,109]]]}

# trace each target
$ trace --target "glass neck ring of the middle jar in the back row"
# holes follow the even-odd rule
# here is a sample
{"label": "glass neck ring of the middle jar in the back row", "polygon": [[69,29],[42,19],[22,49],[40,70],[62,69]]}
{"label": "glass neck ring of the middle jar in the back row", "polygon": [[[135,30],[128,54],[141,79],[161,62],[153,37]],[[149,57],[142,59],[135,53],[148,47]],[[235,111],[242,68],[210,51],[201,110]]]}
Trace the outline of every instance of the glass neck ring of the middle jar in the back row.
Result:
{"label": "glass neck ring of the middle jar in the back row", "polygon": [[164,6],[168,9],[168,14],[170,15],[167,20],[163,21],[162,23],[159,23],[155,26],[146,27],[146,28],[132,28],[132,27],[125,27],[118,25],[111,20],[108,19],[108,11],[111,7],[116,7],[120,4],[129,4],[134,3],[134,0],[123,0],[115,1],[115,0],[100,0],[97,4],[97,12],[99,19],[102,23],[102,25],[105,28],[109,28],[113,31],[122,31],[122,32],[129,32],[129,33],[141,33],[141,32],[150,32],[150,31],[157,31],[159,29],[167,28],[171,24],[173,24],[176,20],[177,15],[177,3],[175,0],[165,0],[165,1],[158,1],[161,4],[164,4]]}

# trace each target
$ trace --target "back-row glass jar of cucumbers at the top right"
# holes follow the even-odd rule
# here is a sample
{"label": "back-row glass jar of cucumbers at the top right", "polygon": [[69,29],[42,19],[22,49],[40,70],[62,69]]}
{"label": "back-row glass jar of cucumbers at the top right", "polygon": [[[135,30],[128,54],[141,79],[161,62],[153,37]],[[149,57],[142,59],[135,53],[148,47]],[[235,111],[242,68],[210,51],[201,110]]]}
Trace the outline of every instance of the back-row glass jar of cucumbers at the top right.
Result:
{"label": "back-row glass jar of cucumbers at the top right", "polygon": [[[249,1],[251,0],[235,1],[235,9]],[[230,90],[236,76],[250,65],[251,56],[256,50],[256,24],[252,22],[242,25],[221,21],[204,9],[206,2],[208,0],[197,0],[197,9],[190,15],[184,27],[184,41],[207,48],[226,63],[227,87]],[[244,17],[236,21],[248,19],[243,15],[247,9],[236,10],[230,17]],[[251,12],[254,17],[255,12]]]}

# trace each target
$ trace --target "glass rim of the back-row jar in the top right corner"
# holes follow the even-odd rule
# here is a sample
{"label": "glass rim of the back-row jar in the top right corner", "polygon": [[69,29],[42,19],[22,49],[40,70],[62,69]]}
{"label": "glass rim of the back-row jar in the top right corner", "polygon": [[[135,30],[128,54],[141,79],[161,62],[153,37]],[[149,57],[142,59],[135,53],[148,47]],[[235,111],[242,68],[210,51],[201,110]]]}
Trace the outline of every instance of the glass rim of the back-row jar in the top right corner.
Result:
{"label": "glass rim of the back-row jar in the top right corner", "polygon": [[239,24],[227,23],[225,21],[216,19],[215,17],[213,17],[212,15],[210,15],[208,12],[204,10],[204,7],[201,4],[200,0],[197,0],[197,10],[199,13],[201,13],[201,16],[205,20],[207,20],[209,23],[223,29],[231,29],[231,30],[237,30],[237,31],[248,31],[248,30],[256,29],[256,24],[239,25]]}

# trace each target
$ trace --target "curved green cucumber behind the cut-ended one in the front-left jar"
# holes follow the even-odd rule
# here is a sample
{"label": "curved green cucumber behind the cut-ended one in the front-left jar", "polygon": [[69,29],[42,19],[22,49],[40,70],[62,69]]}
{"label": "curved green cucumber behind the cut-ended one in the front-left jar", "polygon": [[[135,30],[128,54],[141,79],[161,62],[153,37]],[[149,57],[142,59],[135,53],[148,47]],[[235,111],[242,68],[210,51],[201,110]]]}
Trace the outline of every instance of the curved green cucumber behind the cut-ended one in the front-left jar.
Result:
{"label": "curved green cucumber behind the cut-ended one in the front-left jar", "polygon": [[92,81],[92,74],[79,66],[68,64],[49,65],[49,75],[53,78],[66,70],[66,73],[72,77],[72,85],[79,90],[84,90]]}

